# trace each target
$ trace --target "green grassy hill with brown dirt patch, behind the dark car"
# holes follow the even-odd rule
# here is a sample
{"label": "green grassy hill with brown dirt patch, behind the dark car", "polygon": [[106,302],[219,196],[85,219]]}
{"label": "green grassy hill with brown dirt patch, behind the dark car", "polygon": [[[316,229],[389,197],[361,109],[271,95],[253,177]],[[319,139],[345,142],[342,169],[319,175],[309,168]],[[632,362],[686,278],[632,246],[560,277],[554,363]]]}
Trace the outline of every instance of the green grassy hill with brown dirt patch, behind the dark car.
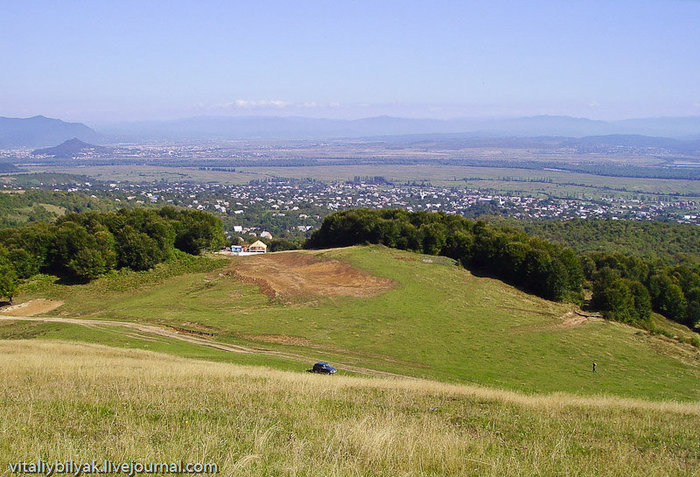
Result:
{"label": "green grassy hill with brown dirt patch, behind the dark car", "polygon": [[[528,393],[700,399],[696,348],[580,317],[570,305],[476,277],[449,259],[372,246],[235,257],[218,268],[188,270],[176,275],[159,266],[87,285],[39,277],[19,301],[63,300],[50,315],[175,326],[285,353],[275,355],[273,365],[287,369],[326,359],[341,369]],[[54,324],[41,323],[11,325],[0,336],[21,337],[14,326],[48,339],[100,341],[78,328],[52,331]],[[163,351],[178,354],[176,345]],[[271,356],[245,356],[245,362],[270,364]]]}

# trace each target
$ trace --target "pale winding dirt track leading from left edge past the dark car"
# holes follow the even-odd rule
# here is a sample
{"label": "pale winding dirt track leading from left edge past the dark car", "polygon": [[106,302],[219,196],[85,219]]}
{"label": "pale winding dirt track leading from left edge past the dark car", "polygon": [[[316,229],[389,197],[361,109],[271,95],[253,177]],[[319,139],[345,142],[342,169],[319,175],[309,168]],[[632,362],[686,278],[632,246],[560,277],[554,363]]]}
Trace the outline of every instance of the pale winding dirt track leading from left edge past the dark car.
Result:
{"label": "pale winding dirt track leading from left edge past the dark car", "polygon": [[[0,321],[36,321],[44,323],[68,323],[73,325],[87,326],[90,328],[100,327],[100,326],[114,326],[127,328],[129,330],[137,331],[151,336],[162,336],[166,338],[172,338],[179,341],[185,341],[187,343],[192,343],[201,346],[208,346],[210,348],[215,348],[222,351],[228,351],[231,353],[245,353],[245,354],[261,354],[267,356],[276,356],[280,358],[291,359],[305,364],[310,364],[314,362],[314,358],[304,356],[296,353],[288,353],[286,351],[276,351],[264,348],[250,348],[247,346],[239,346],[228,343],[221,343],[219,341],[214,341],[207,338],[202,338],[198,336],[192,336],[190,334],[181,333],[176,330],[168,329],[161,326],[155,325],[145,325],[142,323],[133,323],[129,321],[111,321],[111,320],[86,320],[80,318],[55,318],[55,317],[40,317],[40,316],[9,316],[0,315]],[[133,335],[132,335],[133,336]],[[339,369],[346,371],[351,371],[354,373],[366,374],[371,376],[389,377],[389,378],[409,378],[418,379],[411,376],[405,376],[402,374],[390,373],[388,371],[379,371],[375,369],[362,368],[359,366],[353,366],[349,364],[337,363]]]}

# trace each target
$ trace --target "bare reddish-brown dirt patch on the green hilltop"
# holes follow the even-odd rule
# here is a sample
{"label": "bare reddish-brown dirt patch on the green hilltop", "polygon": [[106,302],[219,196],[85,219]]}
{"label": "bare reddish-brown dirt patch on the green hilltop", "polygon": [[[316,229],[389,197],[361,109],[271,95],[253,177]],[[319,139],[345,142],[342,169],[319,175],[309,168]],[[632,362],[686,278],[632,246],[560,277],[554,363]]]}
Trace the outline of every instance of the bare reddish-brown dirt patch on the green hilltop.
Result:
{"label": "bare reddish-brown dirt patch on the green hilltop", "polygon": [[339,260],[323,260],[299,252],[239,257],[233,261],[232,273],[253,283],[271,298],[298,296],[380,295],[396,283],[375,277]]}

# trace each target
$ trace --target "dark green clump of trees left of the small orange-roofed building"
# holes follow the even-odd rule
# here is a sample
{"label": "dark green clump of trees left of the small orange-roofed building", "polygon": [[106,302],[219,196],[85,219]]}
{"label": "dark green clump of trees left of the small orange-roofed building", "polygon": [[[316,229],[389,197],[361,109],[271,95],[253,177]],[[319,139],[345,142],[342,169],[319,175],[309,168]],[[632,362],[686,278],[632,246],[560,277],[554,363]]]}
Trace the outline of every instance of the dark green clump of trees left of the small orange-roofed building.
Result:
{"label": "dark green clump of trees left of the small orange-roofed building", "polygon": [[199,254],[223,243],[221,220],[173,207],[71,213],[54,223],[3,229],[0,297],[12,300],[19,281],[37,273],[88,281],[113,269],[150,269],[177,250]]}

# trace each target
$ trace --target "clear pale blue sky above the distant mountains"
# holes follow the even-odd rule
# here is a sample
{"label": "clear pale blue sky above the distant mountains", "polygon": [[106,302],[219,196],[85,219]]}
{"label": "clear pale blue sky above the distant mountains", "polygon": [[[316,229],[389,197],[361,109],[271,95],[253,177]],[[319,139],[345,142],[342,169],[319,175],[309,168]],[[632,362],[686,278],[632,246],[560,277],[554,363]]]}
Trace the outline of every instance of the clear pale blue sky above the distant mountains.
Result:
{"label": "clear pale blue sky above the distant mountains", "polygon": [[0,0],[0,116],[700,116],[700,0]]}

